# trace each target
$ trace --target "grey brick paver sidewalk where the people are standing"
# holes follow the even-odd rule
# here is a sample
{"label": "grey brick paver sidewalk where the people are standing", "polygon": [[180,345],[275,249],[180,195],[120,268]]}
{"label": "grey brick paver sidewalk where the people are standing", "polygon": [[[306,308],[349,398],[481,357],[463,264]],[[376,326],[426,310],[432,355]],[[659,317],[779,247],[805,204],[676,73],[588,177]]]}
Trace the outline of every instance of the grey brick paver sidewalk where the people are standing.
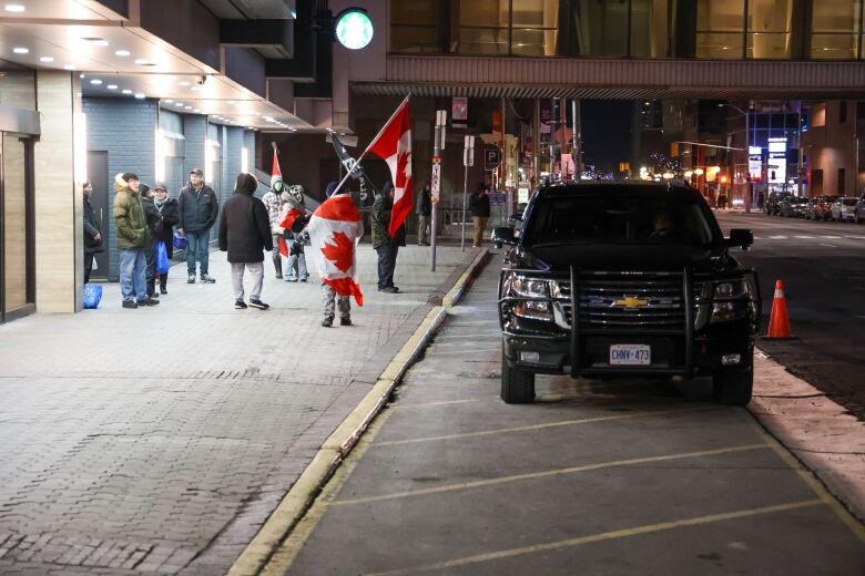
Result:
{"label": "grey brick paver sidewalk where the people are standing", "polygon": [[234,310],[222,253],[217,284],[174,266],[157,307],[112,284],[98,310],[0,327],[0,574],[224,574],[475,255],[439,247],[430,272],[404,248],[387,295],[362,245],[352,327],[269,261],[273,308]]}

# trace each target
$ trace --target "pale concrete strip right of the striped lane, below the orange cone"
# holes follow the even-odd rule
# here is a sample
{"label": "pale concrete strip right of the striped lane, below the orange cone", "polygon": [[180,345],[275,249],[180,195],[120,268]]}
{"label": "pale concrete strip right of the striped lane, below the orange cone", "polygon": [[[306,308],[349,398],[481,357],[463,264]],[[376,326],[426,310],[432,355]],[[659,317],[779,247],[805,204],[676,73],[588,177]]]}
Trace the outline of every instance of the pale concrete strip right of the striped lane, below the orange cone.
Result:
{"label": "pale concrete strip right of the striped lane, below the orange cone", "polygon": [[[783,364],[755,350],[754,397],[747,410],[846,510],[865,521],[865,423]],[[865,541],[865,529],[858,532]]]}

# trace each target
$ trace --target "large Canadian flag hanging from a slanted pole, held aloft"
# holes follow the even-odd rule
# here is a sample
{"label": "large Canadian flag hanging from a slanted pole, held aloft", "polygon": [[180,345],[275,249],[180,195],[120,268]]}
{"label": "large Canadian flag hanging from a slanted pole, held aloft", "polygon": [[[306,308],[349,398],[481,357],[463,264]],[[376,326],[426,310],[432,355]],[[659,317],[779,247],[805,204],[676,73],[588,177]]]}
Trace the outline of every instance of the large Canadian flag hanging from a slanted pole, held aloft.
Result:
{"label": "large Canadian flag hanging from a slanted pole, held aloft", "polygon": [[394,236],[411,212],[411,120],[408,116],[408,96],[367,150],[384,160],[390,168],[394,209],[388,234]]}

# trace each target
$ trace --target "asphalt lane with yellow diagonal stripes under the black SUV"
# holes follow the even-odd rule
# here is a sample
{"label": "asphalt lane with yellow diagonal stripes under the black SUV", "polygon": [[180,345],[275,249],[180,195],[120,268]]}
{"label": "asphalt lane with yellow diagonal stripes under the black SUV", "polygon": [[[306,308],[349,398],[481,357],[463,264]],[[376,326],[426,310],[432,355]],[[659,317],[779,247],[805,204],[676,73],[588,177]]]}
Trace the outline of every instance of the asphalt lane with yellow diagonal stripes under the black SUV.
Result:
{"label": "asphalt lane with yellow diagonal stripes under the black SUV", "polygon": [[708,379],[501,402],[499,263],[265,574],[865,573],[862,525]]}

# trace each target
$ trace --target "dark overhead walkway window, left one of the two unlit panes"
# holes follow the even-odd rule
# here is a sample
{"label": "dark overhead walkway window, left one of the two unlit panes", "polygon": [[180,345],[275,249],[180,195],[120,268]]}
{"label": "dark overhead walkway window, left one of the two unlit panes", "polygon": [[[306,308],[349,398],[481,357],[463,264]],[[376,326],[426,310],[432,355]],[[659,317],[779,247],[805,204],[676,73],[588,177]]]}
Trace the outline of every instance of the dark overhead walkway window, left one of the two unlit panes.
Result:
{"label": "dark overhead walkway window, left one of the two unlit panes", "polygon": [[628,55],[628,2],[578,0],[576,35],[583,56]]}

